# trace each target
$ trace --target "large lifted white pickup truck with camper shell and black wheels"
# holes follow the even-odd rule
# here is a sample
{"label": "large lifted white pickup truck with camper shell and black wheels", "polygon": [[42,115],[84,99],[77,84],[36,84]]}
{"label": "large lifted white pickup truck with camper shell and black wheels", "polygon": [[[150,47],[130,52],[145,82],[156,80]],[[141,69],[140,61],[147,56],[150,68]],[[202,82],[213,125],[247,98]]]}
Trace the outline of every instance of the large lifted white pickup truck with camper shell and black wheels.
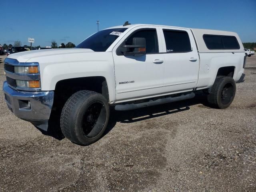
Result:
{"label": "large lifted white pickup truck with camper shell and black wheels", "polygon": [[209,105],[227,108],[244,81],[245,63],[234,32],[126,23],[76,48],[11,54],[3,90],[18,118],[47,130],[58,114],[64,136],[88,145],[104,133],[110,106],[132,110],[203,90]]}

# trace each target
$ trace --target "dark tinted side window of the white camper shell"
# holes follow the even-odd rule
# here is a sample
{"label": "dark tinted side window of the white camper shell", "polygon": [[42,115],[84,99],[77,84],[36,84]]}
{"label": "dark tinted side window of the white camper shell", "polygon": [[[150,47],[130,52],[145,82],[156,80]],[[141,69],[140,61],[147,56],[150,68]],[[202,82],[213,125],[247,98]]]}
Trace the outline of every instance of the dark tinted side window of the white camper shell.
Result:
{"label": "dark tinted side window of the white camper shell", "polygon": [[210,50],[218,49],[240,49],[235,36],[203,35],[206,47]]}

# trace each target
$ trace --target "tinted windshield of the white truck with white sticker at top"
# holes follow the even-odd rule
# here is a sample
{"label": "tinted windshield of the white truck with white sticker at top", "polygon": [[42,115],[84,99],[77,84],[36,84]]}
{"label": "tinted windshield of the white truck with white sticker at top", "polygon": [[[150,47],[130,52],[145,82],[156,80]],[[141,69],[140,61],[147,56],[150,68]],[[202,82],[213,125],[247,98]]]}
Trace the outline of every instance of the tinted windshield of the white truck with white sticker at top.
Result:
{"label": "tinted windshield of the white truck with white sticker at top", "polygon": [[99,31],[86,40],[78,44],[75,48],[87,48],[96,52],[106,51],[108,47],[124,32],[127,28],[105,29]]}

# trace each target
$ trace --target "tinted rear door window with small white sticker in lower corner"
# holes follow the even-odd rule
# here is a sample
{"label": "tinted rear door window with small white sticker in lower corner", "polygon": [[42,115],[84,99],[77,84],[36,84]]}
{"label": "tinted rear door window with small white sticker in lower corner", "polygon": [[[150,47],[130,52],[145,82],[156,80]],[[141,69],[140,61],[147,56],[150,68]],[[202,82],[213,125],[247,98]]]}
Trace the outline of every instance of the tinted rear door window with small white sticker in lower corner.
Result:
{"label": "tinted rear door window with small white sticker in lower corner", "polygon": [[163,32],[167,53],[191,51],[190,39],[186,31],[163,29]]}

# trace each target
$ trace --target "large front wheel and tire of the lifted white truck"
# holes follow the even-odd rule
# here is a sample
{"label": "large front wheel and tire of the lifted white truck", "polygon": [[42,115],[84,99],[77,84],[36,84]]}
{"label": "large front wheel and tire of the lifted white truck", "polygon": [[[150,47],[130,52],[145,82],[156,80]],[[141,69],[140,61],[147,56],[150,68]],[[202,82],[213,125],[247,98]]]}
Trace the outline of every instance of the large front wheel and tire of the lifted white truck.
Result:
{"label": "large front wheel and tire of the lifted white truck", "polygon": [[108,125],[109,105],[102,94],[82,90],[64,105],[60,127],[66,138],[80,145],[96,142]]}

